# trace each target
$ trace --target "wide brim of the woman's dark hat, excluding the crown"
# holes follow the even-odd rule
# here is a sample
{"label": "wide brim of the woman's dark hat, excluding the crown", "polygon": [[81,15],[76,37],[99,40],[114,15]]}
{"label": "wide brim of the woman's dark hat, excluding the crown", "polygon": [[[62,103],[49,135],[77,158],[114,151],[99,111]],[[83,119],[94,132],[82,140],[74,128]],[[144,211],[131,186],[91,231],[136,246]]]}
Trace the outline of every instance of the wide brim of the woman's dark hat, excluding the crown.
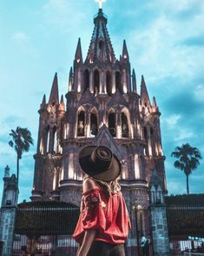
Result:
{"label": "wide brim of the woman's dark hat, excluding the crown", "polygon": [[[89,145],[82,149],[79,153],[79,164],[82,171],[88,174],[90,177],[99,179],[102,181],[112,181],[118,178],[121,174],[122,167],[120,160],[113,154],[112,163],[109,168],[101,173],[97,174],[96,166],[90,161],[90,156],[97,146]],[[95,174],[96,172],[96,174]]]}

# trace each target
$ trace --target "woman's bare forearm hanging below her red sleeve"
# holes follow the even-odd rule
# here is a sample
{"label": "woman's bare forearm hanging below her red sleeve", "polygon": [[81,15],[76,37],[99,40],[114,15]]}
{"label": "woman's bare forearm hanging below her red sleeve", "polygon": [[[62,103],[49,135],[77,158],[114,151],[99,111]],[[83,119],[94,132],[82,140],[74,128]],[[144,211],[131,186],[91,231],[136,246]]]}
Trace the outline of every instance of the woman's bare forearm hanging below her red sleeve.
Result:
{"label": "woman's bare forearm hanging below her red sleeve", "polygon": [[87,253],[89,253],[90,246],[92,245],[95,239],[95,232],[95,229],[89,229],[85,232],[82,241],[82,246],[80,247],[80,250],[76,256],[86,256]]}

